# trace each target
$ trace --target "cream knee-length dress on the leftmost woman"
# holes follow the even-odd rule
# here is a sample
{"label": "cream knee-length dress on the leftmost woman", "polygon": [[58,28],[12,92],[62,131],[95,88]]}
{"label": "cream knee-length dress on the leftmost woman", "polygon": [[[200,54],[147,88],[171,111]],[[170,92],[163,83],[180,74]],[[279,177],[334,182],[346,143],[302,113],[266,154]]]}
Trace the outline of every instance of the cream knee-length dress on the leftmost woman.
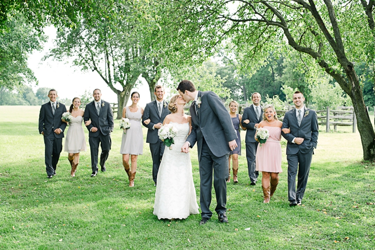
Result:
{"label": "cream knee-length dress on the leftmost woman", "polygon": [[65,152],[79,153],[86,151],[85,133],[82,127],[82,117],[73,117],[69,122],[67,135],[65,136]]}

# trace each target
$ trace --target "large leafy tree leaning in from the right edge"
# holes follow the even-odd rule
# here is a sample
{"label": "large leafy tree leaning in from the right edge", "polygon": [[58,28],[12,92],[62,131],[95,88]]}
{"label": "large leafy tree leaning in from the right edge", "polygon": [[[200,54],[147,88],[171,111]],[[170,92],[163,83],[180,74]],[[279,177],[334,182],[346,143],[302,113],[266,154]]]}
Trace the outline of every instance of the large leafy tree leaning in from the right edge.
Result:
{"label": "large leafy tree leaning in from the right edge", "polygon": [[162,39],[185,57],[206,57],[230,40],[244,68],[262,66],[269,51],[290,49],[306,65],[319,65],[350,96],[364,159],[375,159],[374,128],[354,69],[374,58],[373,0],[164,0],[155,7],[168,13],[159,22]]}

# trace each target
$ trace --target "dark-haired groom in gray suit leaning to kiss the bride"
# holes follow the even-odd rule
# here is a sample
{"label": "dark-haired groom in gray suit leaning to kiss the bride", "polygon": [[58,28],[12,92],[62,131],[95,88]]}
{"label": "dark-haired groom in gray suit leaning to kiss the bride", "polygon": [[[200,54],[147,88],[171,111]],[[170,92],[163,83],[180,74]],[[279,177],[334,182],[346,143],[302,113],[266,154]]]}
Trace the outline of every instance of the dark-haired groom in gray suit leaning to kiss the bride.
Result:
{"label": "dark-haired groom in gray suit leaning to kiss the bride", "polygon": [[200,176],[200,207],[205,224],[212,216],[210,210],[212,171],[214,172],[214,188],[217,206],[215,211],[219,221],[227,223],[226,217],[226,180],[228,179],[229,151],[237,147],[234,130],[228,111],[223,102],[212,91],[197,91],[188,80],[179,83],[177,90],[186,102],[193,101],[190,106],[191,133],[181,152],[188,153],[195,142],[198,145]]}

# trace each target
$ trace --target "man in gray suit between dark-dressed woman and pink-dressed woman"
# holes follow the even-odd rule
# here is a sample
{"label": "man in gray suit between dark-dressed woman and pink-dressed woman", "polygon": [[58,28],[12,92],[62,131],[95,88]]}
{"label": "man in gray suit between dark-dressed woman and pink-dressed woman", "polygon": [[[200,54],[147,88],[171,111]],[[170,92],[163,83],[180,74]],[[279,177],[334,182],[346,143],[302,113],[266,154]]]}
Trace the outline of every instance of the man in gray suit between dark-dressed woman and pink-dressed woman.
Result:
{"label": "man in gray suit between dark-dressed woman and pink-dressed woman", "polygon": [[242,126],[246,127],[246,159],[247,169],[250,177],[250,185],[255,185],[258,179],[258,171],[255,170],[255,155],[259,142],[254,138],[255,132],[260,122],[263,121],[263,107],[261,106],[261,94],[255,92],[251,95],[253,104],[245,108],[242,115]]}

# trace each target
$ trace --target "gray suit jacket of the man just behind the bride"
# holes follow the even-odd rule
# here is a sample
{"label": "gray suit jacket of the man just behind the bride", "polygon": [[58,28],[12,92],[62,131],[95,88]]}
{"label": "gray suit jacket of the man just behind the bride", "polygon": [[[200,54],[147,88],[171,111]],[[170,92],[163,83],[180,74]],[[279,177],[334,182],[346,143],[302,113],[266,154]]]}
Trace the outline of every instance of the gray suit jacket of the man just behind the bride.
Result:
{"label": "gray suit jacket of the man just behind the bride", "polygon": [[[169,115],[171,112],[168,109],[168,102],[163,101],[163,107],[161,111],[161,116],[159,116],[159,110],[157,108],[156,100],[153,100],[152,102],[149,102],[146,104],[145,110],[143,111],[143,119],[142,124],[147,127],[149,130],[147,131],[147,143],[156,143],[159,140],[159,136],[157,135],[157,131],[159,129],[152,129],[153,125],[158,123],[163,123],[164,119],[167,115]],[[151,122],[146,125],[144,122],[145,120],[149,119]]]}

